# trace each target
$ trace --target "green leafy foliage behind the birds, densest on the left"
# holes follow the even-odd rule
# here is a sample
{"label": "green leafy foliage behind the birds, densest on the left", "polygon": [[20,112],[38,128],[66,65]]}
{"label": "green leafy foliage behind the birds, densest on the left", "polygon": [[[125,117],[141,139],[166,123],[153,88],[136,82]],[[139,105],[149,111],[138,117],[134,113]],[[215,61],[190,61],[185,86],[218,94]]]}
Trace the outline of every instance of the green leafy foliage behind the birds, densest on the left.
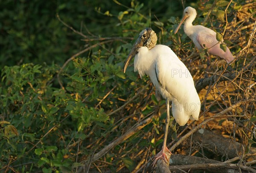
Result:
{"label": "green leafy foliage behind the birds, densest on the left", "polygon": [[[132,62],[126,74],[122,68],[138,33],[151,27],[160,38],[158,43],[171,47],[189,70],[193,69],[192,63],[186,62],[193,50],[191,40],[182,30],[173,35],[180,21],[177,16],[182,15],[181,2],[5,0],[0,3],[0,172],[10,171],[9,166],[19,172],[75,172],[84,165],[82,161],[90,159],[149,114],[155,116],[148,125],[95,163],[111,172],[133,171],[139,162],[137,153],[157,153],[163,142],[157,139],[165,125],[165,100],[156,99],[152,85],[138,94],[148,77],[139,79]],[[208,7],[212,3],[207,2]],[[234,11],[241,9],[239,3],[231,4]],[[218,26],[219,32],[223,31],[226,4],[227,1],[217,2],[209,19],[212,23],[206,23],[207,27]],[[198,11],[195,23],[201,24],[208,11],[208,8]],[[57,14],[84,37],[64,26]],[[228,20],[232,17],[228,16]],[[225,44],[237,44],[236,40],[222,42],[219,33],[217,39],[224,51]],[[105,40],[110,41],[102,44]],[[88,51],[74,56],[85,48]],[[241,48],[237,45],[233,52]],[[200,53],[200,61],[205,60],[206,51]],[[72,60],[62,69],[70,57]],[[125,108],[116,111],[135,95]],[[209,112],[212,109],[213,106]],[[249,122],[254,120],[252,116]],[[177,132],[172,117],[168,142],[179,138]],[[254,144],[253,140],[248,142]],[[98,171],[94,166],[91,170]]]}

